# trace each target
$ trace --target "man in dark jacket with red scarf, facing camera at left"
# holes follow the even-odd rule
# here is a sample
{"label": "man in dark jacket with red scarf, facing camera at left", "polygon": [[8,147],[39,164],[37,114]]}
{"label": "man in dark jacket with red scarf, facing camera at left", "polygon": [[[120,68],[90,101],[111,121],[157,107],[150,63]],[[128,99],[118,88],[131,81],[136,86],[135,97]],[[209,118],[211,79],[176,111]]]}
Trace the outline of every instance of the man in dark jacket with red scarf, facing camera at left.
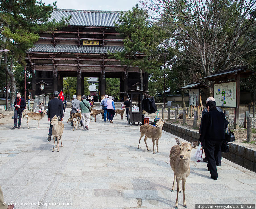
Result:
{"label": "man in dark jacket with red scarf, facing camera at left", "polygon": [[[21,125],[21,116],[22,116],[22,111],[25,109],[26,107],[26,101],[24,98],[21,97],[21,93],[18,92],[17,93],[17,97],[15,98],[14,101],[14,105],[15,109],[14,109],[14,126],[12,129],[19,129],[20,125]],[[17,118],[19,116],[19,122],[18,122],[18,127],[17,127]]]}

